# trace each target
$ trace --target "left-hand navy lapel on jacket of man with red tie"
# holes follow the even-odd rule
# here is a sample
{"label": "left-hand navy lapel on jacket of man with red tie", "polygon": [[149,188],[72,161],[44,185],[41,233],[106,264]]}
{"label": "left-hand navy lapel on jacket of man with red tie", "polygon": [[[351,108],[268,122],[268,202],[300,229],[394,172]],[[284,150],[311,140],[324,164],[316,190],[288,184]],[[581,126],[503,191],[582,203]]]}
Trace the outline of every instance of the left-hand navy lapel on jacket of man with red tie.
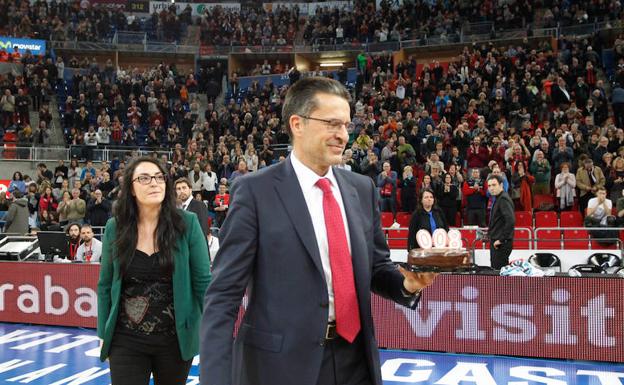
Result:
{"label": "left-hand navy lapel on jacket of man with red tie", "polygon": [[299,180],[290,163],[290,157],[277,167],[281,168],[280,172],[275,174],[277,195],[280,197],[301,243],[303,243],[303,246],[312,258],[312,262],[314,262],[319,273],[325,276],[323,265],[321,264],[321,254],[319,253],[316,236],[314,235],[312,218],[310,218],[310,213],[307,210]]}

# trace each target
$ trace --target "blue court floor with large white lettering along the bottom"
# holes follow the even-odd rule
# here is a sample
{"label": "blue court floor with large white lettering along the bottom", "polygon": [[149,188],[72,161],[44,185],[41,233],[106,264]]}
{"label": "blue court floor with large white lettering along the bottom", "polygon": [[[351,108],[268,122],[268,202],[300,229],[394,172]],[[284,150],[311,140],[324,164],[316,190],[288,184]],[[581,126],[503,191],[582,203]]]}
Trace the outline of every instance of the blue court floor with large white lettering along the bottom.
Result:
{"label": "blue court floor with large white lettering along the bottom", "polygon": [[[108,385],[98,346],[93,329],[0,323],[0,384]],[[604,362],[382,350],[381,363],[384,385],[624,385],[624,364]]]}

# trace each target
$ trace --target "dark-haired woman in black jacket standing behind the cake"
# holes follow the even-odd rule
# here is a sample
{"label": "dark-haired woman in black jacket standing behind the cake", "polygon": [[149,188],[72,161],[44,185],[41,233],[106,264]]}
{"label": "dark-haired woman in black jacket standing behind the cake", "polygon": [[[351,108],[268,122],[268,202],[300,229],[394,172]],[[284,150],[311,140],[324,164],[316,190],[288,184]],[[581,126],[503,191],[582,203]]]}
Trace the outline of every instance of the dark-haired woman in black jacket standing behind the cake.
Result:
{"label": "dark-haired woman in black jacket standing behind the cake", "polygon": [[435,204],[435,195],[433,190],[428,188],[425,188],[420,192],[418,208],[414,211],[412,219],[410,220],[409,232],[407,236],[408,251],[420,247],[416,241],[416,233],[421,229],[427,230],[431,234],[433,234],[435,229],[444,229],[448,231],[448,223],[446,222],[444,213]]}

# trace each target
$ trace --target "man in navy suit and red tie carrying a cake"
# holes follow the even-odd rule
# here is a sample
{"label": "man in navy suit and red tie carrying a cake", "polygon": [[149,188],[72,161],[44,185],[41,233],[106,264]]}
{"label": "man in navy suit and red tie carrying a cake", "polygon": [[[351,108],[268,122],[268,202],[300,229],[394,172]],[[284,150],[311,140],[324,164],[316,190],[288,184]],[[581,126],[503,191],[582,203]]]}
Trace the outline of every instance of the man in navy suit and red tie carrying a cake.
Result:
{"label": "man in navy suit and red tie carrying a cake", "polygon": [[301,79],[282,116],[293,152],[232,187],[204,301],[201,384],[381,385],[370,292],[415,308],[435,275],[396,268],[372,181],[332,167],[351,124],[344,87]]}

